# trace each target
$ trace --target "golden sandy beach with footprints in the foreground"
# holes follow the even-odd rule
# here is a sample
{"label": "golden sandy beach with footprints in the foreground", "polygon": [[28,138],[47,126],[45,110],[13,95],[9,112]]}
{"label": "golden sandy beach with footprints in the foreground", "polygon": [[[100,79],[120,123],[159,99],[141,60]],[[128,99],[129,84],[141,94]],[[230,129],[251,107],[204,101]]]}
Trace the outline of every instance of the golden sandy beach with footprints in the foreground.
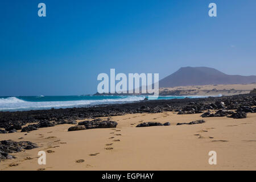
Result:
{"label": "golden sandy beach with footprints in the foreground", "polygon": [[[256,113],[247,118],[203,118],[205,123],[181,125],[202,119],[201,114],[125,114],[110,118],[114,129],[68,131],[69,124],[30,133],[0,134],[1,140],[30,141],[39,148],[13,154],[1,170],[255,170]],[[102,117],[105,119],[108,117]],[[139,123],[170,122],[170,126],[135,127]],[[21,138],[21,139],[19,139]],[[47,164],[38,164],[46,151]],[[208,163],[217,152],[217,165]],[[79,162],[79,160],[84,162]]]}

